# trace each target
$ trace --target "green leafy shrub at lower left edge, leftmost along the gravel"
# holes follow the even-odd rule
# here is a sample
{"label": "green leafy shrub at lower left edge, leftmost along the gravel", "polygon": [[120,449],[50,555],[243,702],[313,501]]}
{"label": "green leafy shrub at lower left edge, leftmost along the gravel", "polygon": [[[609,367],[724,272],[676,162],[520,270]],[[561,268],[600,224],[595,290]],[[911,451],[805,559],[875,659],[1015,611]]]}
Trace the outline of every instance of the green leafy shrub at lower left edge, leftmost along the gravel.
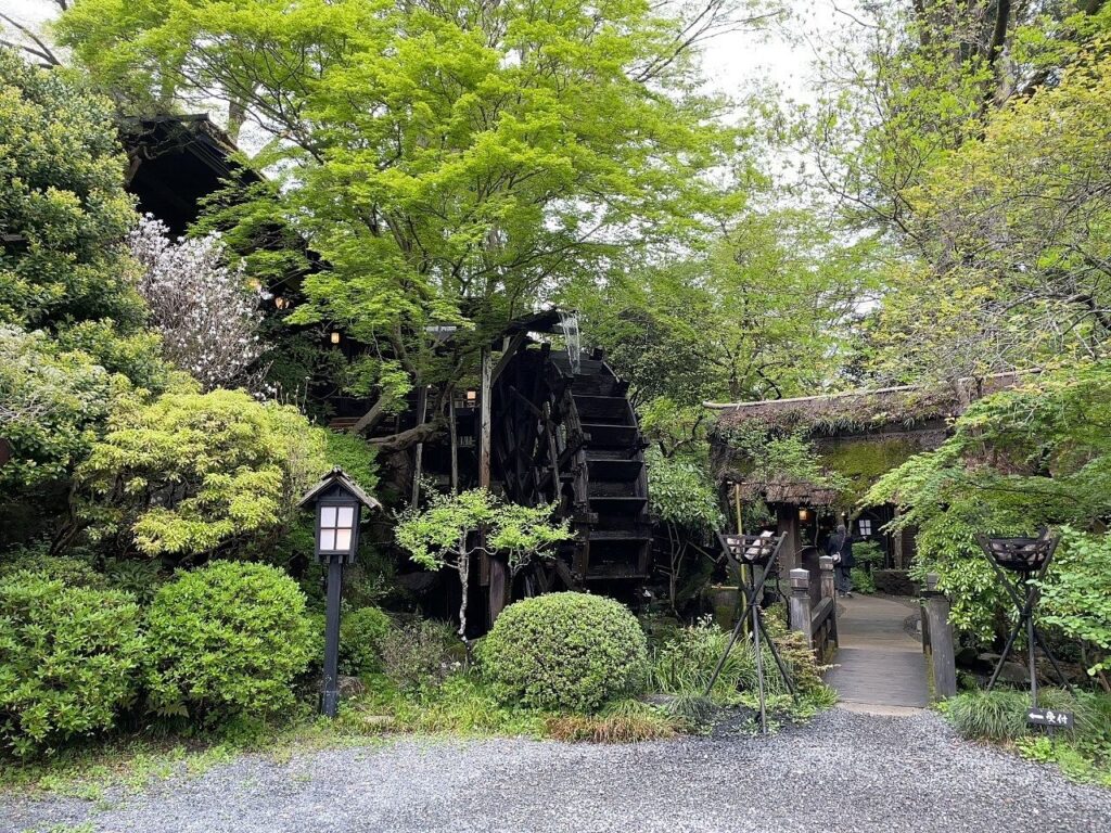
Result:
{"label": "green leafy shrub at lower left edge, leftmost along the gravel", "polygon": [[144,646],[127,593],[21,572],[0,581],[0,739],[20,755],[110,729]]}

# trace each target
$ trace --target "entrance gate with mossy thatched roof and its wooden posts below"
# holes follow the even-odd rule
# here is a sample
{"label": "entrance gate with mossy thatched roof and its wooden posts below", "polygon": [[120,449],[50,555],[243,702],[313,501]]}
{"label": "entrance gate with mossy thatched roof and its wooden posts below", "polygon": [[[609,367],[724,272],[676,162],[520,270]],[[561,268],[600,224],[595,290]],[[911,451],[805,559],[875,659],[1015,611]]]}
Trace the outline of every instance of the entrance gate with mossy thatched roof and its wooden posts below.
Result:
{"label": "entrance gate with mossy thatched roof and its wooden posts below", "polygon": [[[850,533],[880,544],[885,566],[904,570],[915,552],[912,530],[883,528],[895,516],[891,504],[863,505],[864,494],[885,472],[922,451],[938,448],[952,421],[989,393],[1015,384],[1015,374],[961,380],[950,385],[901,385],[819,397],[738,402],[707,402],[717,411],[711,432],[711,462],[730,503],[762,502],[769,529],[788,534],[782,570],[817,568],[818,550],[838,522]],[[738,449],[740,432],[769,436],[800,431],[812,443],[825,472],[843,483],[831,489],[771,473],[753,476],[757,468]]]}

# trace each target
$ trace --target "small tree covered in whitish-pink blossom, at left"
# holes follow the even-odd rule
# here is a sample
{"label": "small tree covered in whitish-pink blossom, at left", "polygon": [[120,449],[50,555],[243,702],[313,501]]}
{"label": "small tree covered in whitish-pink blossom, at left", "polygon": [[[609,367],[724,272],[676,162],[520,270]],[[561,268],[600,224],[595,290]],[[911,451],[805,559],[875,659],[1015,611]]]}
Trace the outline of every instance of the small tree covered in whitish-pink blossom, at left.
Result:
{"label": "small tree covered in whitish-pink blossom, at left", "polygon": [[128,240],[166,358],[206,391],[261,388],[260,293],[250,291],[242,264],[228,264],[219,234],[173,242],[166,224],[148,214]]}

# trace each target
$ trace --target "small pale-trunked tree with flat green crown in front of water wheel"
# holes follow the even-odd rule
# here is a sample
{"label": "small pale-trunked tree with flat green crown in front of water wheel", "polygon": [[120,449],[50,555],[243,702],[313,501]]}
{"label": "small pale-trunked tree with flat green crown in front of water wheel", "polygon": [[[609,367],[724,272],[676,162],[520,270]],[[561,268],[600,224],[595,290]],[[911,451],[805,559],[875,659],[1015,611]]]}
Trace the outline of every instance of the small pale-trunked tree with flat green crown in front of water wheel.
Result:
{"label": "small pale-trunked tree with flat green crown in front of water wheel", "polygon": [[[480,529],[484,545],[474,534]],[[432,493],[427,509],[410,509],[401,515],[394,534],[421,566],[439,570],[451,564],[459,571],[463,590],[459,635],[463,639],[467,638],[467,578],[473,555],[506,555],[510,573],[517,574],[530,559],[544,556],[550,546],[573,535],[565,521],[551,521],[551,506],[503,503],[486,489],[457,495]]]}

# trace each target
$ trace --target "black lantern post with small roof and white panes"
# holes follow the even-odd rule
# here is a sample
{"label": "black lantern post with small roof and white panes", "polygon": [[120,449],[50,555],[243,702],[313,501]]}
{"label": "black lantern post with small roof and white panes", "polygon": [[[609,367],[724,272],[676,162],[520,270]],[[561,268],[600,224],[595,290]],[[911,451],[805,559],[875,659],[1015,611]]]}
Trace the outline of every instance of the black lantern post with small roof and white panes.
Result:
{"label": "black lantern post with small roof and white panes", "polygon": [[328,614],[324,625],[324,692],[320,710],[336,716],[339,703],[340,590],[343,565],[354,561],[359,550],[359,520],[362,508],[379,509],[381,503],[362,491],[342,469],[332,469],[298,503],[317,513],[317,558],[328,564]]}

